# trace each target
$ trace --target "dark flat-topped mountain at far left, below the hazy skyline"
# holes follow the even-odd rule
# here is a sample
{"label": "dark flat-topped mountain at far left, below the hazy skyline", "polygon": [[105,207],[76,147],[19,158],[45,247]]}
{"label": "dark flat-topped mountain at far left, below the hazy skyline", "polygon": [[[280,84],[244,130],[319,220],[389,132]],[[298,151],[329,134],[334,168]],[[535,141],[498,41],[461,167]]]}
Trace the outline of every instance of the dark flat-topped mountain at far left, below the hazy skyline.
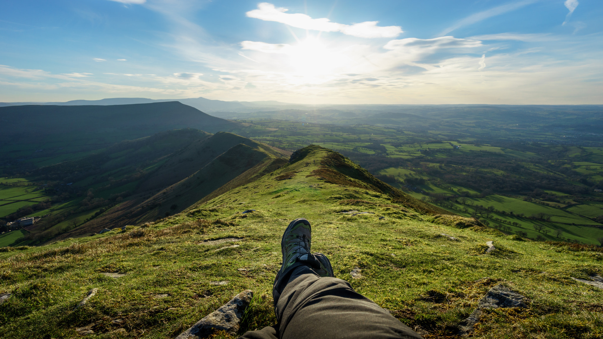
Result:
{"label": "dark flat-topped mountain at far left, below the hazy skyline", "polygon": [[239,124],[207,115],[177,101],[113,106],[8,106],[0,107],[2,135],[11,142],[62,139],[78,143],[137,139],[176,128],[236,130]]}

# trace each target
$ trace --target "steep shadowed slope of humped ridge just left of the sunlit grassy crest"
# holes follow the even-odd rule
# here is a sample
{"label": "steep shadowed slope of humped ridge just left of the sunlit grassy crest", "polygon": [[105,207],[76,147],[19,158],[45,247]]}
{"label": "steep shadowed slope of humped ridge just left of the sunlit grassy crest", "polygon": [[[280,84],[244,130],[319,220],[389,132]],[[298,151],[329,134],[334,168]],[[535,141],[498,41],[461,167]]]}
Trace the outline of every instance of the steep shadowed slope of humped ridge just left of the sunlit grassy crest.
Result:
{"label": "steep shadowed slope of humped ridge just left of the sunlit grassy crest", "polygon": [[224,185],[235,188],[286,163],[288,153],[232,133],[192,142],[140,176],[130,195],[55,239],[154,221],[190,208]]}

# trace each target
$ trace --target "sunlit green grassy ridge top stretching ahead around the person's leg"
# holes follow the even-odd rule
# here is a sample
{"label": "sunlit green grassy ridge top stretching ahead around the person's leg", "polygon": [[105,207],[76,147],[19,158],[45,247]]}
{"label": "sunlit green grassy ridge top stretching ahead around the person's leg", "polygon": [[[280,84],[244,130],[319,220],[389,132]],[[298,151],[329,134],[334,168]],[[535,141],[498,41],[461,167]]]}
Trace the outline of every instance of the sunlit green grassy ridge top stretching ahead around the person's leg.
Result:
{"label": "sunlit green grassy ridge top stretching ahead around the person's leg", "polygon": [[[71,338],[89,324],[91,338],[175,337],[247,288],[255,295],[241,332],[273,325],[280,237],[298,217],[311,221],[312,250],[329,256],[336,277],[426,338],[456,337],[496,284],[526,296],[528,308],[485,311],[476,337],[603,335],[603,291],[570,278],[603,273],[595,247],[479,226],[318,146],[256,178],[156,222],[0,252],[0,294],[13,293],[0,305],[2,337]],[[242,240],[203,244],[224,238]],[[497,250],[486,254],[487,241]],[[356,267],[360,279],[350,275]],[[92,288],[96,296],[74,311]]]}

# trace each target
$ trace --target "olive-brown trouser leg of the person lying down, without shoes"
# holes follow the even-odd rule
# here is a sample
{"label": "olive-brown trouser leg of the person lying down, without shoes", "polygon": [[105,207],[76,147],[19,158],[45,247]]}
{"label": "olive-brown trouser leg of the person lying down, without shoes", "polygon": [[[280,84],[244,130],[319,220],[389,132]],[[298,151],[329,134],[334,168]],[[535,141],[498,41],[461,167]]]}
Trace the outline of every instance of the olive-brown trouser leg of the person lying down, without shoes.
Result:
{"label": "olive-brown trouser leg of the person lying down, without shoes", "polygon": [[388,311],[356,293],[345,280],[320,277],[311,268],[299,266],[288,281],[275,300],[279,324],[249,331],[241,338],[422,339]]}

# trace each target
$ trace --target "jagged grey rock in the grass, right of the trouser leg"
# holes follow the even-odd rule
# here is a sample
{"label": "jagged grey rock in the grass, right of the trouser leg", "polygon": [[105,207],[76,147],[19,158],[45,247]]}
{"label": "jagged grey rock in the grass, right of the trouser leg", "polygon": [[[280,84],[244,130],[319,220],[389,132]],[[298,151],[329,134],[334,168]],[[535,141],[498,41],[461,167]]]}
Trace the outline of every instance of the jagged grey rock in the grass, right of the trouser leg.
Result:
{"label": "jagged grey rock in the grass, right of the trouser leg", "polygon": [[525,297],[521,294],[511,291],[500,284],[490,288],[490,291],[488,291],[482,299],[479,299],[478,308],[476,308],[467,319],[459,324],[460,334],[469,335],[473,332],[473,326],[479,322],[479,316],[482,314],[482,309],[527,307],[526,304],[523,303],[524,298]]}

